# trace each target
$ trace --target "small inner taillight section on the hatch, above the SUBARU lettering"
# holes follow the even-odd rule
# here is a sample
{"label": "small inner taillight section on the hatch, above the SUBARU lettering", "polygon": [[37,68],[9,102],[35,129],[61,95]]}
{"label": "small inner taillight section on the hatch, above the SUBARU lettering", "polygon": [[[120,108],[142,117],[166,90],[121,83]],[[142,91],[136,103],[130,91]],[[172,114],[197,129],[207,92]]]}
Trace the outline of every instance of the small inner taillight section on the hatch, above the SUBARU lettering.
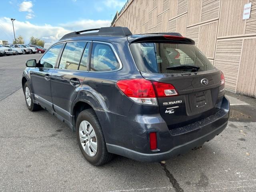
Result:
{"label": "small inner taillight section on the hatch, above the SUBARU lettering", "polygon": [[178,95],[178,92],[174,88],[172,84],[169,83],[161,83],[153,81],[153,84],[156,88],[156,94],[158,97],[166,97],[166,96],[174,96]]}

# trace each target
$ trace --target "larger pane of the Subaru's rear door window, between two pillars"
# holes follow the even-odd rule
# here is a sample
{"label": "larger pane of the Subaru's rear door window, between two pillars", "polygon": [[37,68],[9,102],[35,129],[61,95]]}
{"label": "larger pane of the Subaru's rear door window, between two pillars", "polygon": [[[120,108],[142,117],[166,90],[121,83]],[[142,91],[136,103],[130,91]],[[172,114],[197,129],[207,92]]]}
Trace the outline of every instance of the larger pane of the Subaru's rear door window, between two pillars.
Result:
{"label": "larger pane of the Subaru's rear door window, between two pillars", "polygon": [[78,70],[86,43],[87,42],[68,42],[61,56],[59,69]]}

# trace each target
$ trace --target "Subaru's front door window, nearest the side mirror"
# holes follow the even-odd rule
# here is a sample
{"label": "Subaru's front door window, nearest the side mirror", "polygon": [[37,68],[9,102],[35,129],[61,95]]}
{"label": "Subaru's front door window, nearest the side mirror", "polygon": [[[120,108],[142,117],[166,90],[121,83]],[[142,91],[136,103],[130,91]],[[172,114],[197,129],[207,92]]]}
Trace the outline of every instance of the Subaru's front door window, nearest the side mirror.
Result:
{"label": "Subaru's front door window, nearest the side mirror", "polygon": [[52,46],[40,60],[40,67],[54,68],[58,54],[62,49],[63,43]]}

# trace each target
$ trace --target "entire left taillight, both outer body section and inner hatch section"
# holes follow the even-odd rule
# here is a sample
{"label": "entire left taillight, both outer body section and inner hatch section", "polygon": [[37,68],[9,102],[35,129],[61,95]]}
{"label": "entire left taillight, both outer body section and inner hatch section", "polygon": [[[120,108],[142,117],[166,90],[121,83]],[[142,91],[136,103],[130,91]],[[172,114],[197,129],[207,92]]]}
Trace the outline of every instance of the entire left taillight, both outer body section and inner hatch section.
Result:
{"label": "entire left taillight, both outer body section and inner hatch section", "polygon": [[126,96],[141,104],[157,105],[156,97],[178,95],[172,84],[144,78],[119,80],[116,85]]}

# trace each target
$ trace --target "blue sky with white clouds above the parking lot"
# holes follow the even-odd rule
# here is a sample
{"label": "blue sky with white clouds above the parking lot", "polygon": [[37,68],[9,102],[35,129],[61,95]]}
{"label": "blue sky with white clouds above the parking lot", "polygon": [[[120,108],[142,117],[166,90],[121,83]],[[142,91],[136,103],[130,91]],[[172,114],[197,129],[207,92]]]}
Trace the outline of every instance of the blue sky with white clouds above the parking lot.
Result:
{"label": "blue sky with white clouds above the parking lot", "polygon": [[110,26],[111,14],[120,11],[125,0],[1,0],[0,40],[12,42],[10,18],[15,18],[16,37],[28,43],[30,36],[56,42],[76,30]]}

